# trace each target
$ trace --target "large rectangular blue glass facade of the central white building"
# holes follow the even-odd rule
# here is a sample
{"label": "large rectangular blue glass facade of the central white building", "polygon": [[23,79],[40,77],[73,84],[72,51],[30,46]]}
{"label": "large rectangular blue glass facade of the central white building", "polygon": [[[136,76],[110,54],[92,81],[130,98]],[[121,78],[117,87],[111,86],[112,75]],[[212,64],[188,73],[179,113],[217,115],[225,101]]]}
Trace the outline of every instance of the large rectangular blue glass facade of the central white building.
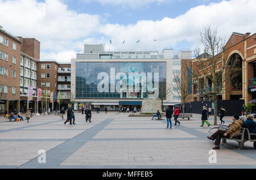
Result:
{"label": "large rectangular blue glass facade of the central white building", "polygon": [[76,98],[166,98],[166,62],[77,62]]}

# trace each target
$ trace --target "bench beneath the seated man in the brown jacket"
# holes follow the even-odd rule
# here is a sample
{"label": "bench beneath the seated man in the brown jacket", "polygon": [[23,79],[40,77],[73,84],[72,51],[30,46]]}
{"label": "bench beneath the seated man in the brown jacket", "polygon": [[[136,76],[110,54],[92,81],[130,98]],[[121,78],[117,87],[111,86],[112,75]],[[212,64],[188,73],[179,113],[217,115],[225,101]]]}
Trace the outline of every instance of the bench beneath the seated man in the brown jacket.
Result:
{"label": "bench beneath the seated man in the brown jacket", "polygon": [[[213,127],[210,130],[213,130],[215,128],[218,128],[218,130],[228,130],[229,129],[227,125],[219,125],[218,127]],[[214,132],[210,132],[210,130],[208,131],[208,133],[214,134]],[[238,148],[243,149],[243,145],[247,141],[247,139],[245,138],[245,132],[246,132],[246,128],[241,127],[240,133],[234,134],[230,138],[222,138],[222,143],[226,143],[227,139],[234,140],[234,141],[238,142]]]}

